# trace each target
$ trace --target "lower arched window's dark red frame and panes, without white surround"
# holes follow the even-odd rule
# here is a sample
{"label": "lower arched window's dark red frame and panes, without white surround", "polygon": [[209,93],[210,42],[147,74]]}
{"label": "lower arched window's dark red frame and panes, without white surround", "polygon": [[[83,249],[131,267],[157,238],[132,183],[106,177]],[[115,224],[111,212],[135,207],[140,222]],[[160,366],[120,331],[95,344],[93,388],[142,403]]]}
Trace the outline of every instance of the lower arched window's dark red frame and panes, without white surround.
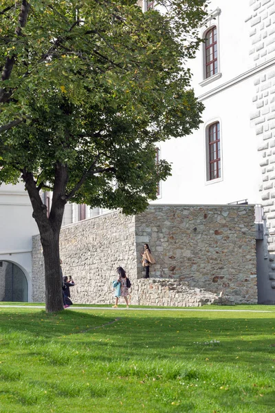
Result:
{"label": "lower arched window's dark red frame and panes, without white surround", "polygon": [[208,180],[221,178],[221,138],[219,122],[208,127]]}

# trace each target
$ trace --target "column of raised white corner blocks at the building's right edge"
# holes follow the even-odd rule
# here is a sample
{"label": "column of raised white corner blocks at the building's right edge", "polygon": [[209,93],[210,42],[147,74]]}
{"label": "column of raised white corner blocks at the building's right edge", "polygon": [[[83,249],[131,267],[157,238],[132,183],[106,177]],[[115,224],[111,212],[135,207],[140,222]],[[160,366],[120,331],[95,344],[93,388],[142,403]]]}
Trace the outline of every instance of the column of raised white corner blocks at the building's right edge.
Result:
{"label": "column of raised white corner blocks at the building's right edge", "polygon": [[[250,50],[251,63],[254,67],[272,62],[272,67],[261,70],[254,77],[255,93],[252,96],[254,110],[250,120],[255,127],[258,142],[259,165],[262,170],[262,179],[265,183],[261,187],[261,198],[265,206],[267,229],[274,231],[275,216],[273,188],[274,162],[275,162],[275,2],[274,0],[250,1],[253,18],[246,19],[252,49]],[[259,50],[261,54],[259,54]],[[274,244],[270,244],[269,251],[274,252]]]}

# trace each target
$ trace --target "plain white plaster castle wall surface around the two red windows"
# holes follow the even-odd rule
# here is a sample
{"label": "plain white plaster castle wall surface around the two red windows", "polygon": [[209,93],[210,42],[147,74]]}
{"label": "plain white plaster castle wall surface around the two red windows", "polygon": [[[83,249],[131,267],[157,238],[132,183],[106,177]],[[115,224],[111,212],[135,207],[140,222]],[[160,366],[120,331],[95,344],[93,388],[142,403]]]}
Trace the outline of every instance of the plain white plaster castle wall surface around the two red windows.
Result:
{"label": "plain white plaster castle wall surface around the two red windows", "polygon": [[[262,3],[267,5],[268,1]],[[265,72],[265,66],[258,67],[251,56],[252,43],[259,36],[258,23],[255,20],[251,26],[250,17],[253,19],[253,7],[259,4],[256,0],[210,2],[214,18],[206,19],[201,36],[213,25],[217,26],[218,73],[203,81],[202,44],[188,67],[193,74],[195,95],[205,105],[203,123],[192,135],[159,145],[161,158],[172,162],[173,169],[172,176],[162,182],[161,196],[153,203],[262,202],[258,153],[261,137],[256,134],[250,116],[254,112],[255,78]],[[264,62],[270,57],[265,56]],[[207,180],[206,171],[206,127],[215,121],[221,127],[221,178],[211,181]]]}

